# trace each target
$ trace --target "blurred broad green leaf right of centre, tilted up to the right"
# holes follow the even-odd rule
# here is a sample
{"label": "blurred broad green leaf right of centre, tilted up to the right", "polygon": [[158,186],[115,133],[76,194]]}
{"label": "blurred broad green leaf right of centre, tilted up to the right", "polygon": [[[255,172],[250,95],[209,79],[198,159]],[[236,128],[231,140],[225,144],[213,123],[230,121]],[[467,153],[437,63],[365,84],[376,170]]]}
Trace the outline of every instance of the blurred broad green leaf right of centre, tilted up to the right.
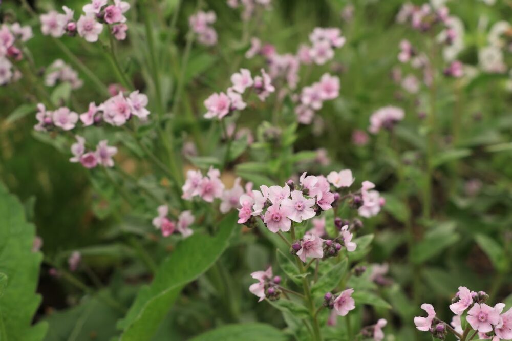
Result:
{"label": "blurred broad green leaf right of centre, tilted up to the right", "polygon": [[455,223],[441,223],[427,232],[421,242],[414,245],[411,260],[415,264],[424,263],[458,242],[459,239],[459,233],[455,232]]}

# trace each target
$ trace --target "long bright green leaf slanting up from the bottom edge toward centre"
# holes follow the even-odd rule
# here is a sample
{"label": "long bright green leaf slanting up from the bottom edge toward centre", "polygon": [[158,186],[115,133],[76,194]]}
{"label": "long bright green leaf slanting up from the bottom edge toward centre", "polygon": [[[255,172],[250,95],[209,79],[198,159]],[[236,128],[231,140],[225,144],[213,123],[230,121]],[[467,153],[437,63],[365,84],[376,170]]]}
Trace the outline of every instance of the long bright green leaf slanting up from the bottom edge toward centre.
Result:
{"label": "long bright green leaf slanting up from the bottom edge toward centre", "polygon": [[159,266],[151,285],[140,289],[118,324],[123,329],[122,341],[148,339],[156,332],[185,284],[197,279],[228,247],[236,220],[233,212],[219,223],[219,232],[214,237],[196,233],[176,246]]}

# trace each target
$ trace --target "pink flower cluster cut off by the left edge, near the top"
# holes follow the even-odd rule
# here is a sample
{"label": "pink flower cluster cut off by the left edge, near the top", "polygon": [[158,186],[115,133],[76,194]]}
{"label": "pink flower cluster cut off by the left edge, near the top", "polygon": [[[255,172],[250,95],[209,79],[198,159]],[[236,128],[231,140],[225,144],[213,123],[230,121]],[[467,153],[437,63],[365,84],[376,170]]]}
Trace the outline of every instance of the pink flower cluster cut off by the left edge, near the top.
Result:
{"label": "pink flower cluster cut off by the left edge, near the top", "polygon": [[22,51],[16,47],[16,42],[26,42],[30,38],[32,38],[30,26],[13,23],[9,26],[3,24],[0,27],[0,85],[20,77],[19,71],[14,71],[12,65],[12,61],[23,58]]}

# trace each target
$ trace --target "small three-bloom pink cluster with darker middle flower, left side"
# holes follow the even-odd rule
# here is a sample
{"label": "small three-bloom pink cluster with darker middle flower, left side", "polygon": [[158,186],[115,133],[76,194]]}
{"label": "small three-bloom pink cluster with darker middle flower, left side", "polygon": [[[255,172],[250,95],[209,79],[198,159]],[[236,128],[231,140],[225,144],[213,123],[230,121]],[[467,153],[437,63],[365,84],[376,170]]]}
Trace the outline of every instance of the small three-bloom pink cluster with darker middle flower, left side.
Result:
{"label": "small three-bloom pink cluster with darker middle flower, left side", "polygon": [[76,143],[71,145],[71,153],[73,157],[70,162],[80,162],[86,168],[94,168],[97,165],[103,167],[113,167],[114,159],[112,157],[117,154],[117,148],[109,146],[109,141],[102,140],[96,146],[95,151],[86,150],[86,139],[76,135]]}

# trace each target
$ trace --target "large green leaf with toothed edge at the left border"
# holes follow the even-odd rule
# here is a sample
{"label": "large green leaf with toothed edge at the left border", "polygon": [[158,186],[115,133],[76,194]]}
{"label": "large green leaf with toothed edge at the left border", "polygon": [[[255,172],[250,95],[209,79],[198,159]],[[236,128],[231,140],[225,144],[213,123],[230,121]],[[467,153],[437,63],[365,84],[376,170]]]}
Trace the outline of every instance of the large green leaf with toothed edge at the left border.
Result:
{"label": "large green leaf with toothed edge at the left border", "polygon": [[32,324],[41,302],[36,294],[40,252],[32,252],[35,228],[27,223],[23,205],[0,184],[0,340],[36,341],[46,323]]}

